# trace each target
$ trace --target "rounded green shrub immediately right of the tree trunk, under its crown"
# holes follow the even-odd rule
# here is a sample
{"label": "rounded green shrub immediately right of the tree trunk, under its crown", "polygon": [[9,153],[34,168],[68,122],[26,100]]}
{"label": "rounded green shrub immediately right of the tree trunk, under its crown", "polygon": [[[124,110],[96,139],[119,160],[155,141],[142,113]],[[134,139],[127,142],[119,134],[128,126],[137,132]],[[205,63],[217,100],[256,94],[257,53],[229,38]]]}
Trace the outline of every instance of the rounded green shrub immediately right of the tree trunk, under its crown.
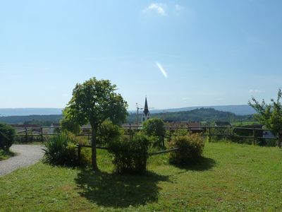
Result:
{"label": "rounded green shrub immediately right of the tree trunk, under its crown", "polygon": [[118,139],[123,133],[121,127],[113,124],[110,120],[104,121],[97,131],[97,144],[107,146],[112,141]]}

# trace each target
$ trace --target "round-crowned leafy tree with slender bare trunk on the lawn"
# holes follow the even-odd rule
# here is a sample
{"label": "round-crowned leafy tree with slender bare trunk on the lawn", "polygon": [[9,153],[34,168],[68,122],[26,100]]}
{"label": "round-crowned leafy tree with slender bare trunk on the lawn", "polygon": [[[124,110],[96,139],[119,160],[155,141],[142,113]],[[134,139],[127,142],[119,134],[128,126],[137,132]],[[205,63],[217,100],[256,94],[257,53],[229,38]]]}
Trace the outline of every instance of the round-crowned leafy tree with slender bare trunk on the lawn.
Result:
{"label": "round-crowned leafy tree with slender bare trunk on the lawn", "polygon": [[90,78],[82,84],[76,84],[73,97],[63,113],[68,119],[80,124],[90,123],[92,131],[92,169],[97,167],[97,131],[106,119],[121,124],[128,114],[128,104],[116,93],[116,85],[109,80]]}

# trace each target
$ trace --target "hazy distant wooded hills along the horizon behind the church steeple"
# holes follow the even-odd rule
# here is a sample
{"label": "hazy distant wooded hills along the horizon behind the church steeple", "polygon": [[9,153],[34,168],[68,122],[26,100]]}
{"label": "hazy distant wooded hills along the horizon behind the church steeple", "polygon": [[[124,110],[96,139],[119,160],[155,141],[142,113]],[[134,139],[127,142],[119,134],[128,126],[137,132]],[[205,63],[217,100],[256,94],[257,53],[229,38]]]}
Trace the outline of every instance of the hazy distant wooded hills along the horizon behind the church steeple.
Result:
{"label": "hazy distant wooded hills along the horizon behind the church steeple", "polygon": [[[232,112],[223,112],[213,108],[200,108],[181,112],[161,112],[151,114],[152,117],[161,118],[164,122],[202,122],[212,124],[214,122],[253,122],[253,115],[236,115]],[[142,113],[139,114],[141,123]],[[62,115],[30,115],[30,116],[11,116],[0,117],[0,122],[7,124],[39,124],[40,126],[51,126],[59,123]],[[136,123],[136,114],[128,115],[126,123]]]}

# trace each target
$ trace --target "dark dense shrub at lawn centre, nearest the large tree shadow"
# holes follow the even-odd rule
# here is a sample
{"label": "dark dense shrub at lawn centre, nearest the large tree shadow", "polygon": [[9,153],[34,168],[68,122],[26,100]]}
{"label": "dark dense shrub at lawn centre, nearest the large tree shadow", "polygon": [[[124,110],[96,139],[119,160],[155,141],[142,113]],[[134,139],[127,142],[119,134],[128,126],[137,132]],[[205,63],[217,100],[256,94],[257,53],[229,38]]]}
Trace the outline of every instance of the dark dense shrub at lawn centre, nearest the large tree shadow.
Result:
{"label": "dark dense shrub at lawn centre, nearest the large tree shadow", "polygon": [[118,173],[142,173],[146,170],[149,140],[144,134],[135,134],[132,139],[121,137],[109,143],[109,152],[114,154],[114,167]]}

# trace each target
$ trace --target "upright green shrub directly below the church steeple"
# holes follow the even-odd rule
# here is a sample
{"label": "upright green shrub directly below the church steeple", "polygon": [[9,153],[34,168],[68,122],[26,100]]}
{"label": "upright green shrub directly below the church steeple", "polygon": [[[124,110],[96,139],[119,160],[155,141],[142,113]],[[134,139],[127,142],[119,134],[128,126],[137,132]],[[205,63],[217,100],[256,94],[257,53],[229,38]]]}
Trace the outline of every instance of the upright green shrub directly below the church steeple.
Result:
{"label": "upright green shrub directly below the church steeple", "polygon": [[164,129],[164,121],[162,119],[147,119],[143,123],[142,131],[150,137],[152,146],[161,148],[166,130]]}

